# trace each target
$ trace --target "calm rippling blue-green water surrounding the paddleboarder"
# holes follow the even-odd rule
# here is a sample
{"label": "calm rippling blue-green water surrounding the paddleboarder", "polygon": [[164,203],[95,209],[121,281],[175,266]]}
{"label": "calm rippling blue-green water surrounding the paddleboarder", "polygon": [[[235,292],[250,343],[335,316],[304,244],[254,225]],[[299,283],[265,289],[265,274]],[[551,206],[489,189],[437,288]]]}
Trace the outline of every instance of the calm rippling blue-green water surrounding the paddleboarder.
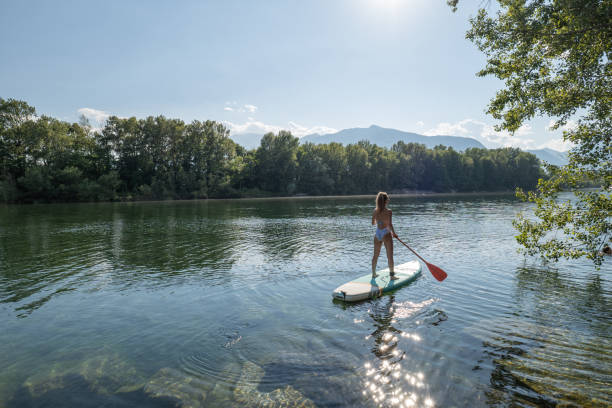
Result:
{"label": "calm rippling blue-green water surrounding the paddleboarder", "polygon": [[448,279],[334,302],[373,201],[0,207],[0,406],[612,404],[610,262],[525,260],[511,196],[392,197]]}

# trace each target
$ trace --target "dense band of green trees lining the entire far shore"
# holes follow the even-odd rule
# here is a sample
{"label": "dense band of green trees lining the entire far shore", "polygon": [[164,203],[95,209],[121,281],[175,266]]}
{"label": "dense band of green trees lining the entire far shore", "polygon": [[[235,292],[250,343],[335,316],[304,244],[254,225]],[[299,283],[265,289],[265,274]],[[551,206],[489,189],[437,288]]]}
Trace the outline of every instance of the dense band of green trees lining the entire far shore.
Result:
{"label": "dense band of green trees lining the entire far shore", "polygon": [[246,150],[215,121],[111,116],[99,129],[0,98],[5,203],[532,190],[544,174],[516,148],[300,144],[280,131]]}

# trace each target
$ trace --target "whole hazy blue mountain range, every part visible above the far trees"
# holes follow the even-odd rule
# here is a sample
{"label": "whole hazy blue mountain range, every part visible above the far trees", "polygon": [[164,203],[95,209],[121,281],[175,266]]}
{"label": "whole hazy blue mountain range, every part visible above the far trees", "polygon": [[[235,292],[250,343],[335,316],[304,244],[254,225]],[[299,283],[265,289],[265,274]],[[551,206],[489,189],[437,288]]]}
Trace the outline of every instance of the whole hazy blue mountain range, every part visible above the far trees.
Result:
{"label": "whole hazy blue mountain range, every part visible above the far trees", "polygon": [[[232,134],[231,138],[239,145],[247,149],[255,149],[259,147],[262,134],[258,133],[239,133]],[[475,147],[480,149],[486,149],[486,147],[478,140],[470,137],[461,136],[425,136],[418,133],[404,132],[397,129],[383,128],[380,126],[372,125],[368,128],[350,128],[343,129],[336,133],[328,133],[324,135],[310,134],[302,137],[300,143],[342,143],[343,145],[354,144],[360,140],[368,140],[371,143],[375,143],[378,146],[384,146],[390,148],[398,141],[404,143],[420,143],[424,144],[428,148],[434,148],[437,145],[444,145],[452,147],[457,151],[464,151],[466,149]],[[558,152],[556,150],[544,148],[537,150],[527,150],[529,153],[533,153],[540,160],[546,161],[554,165],[567,164],[567,153]]]}

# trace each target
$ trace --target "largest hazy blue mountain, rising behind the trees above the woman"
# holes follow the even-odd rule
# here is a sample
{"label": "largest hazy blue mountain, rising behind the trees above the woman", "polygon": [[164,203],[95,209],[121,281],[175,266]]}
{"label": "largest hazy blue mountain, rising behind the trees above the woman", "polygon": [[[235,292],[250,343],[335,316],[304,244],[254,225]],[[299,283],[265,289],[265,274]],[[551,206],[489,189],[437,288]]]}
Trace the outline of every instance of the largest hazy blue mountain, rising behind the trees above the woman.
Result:
{"label": "largest hazy blue mountain, rising behind the trees above the woman", "polygon": [[424,136],[418,133],[403,132],[397,129],[387,129],[372,125],[369,128],[344,129],[337,133],[326,135],[312,134],[300,139],[301,143],[311,142],[315,144],[337,142],[344,145],[357,143],[360,140],[369,140],[378,146],[391,147],[396,142],[420,143],[428,148],[437,145],[452,147],[455,150],[463,151],[470,147],[484,149],[484,145],[476,139],[459,136]]}

